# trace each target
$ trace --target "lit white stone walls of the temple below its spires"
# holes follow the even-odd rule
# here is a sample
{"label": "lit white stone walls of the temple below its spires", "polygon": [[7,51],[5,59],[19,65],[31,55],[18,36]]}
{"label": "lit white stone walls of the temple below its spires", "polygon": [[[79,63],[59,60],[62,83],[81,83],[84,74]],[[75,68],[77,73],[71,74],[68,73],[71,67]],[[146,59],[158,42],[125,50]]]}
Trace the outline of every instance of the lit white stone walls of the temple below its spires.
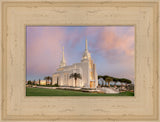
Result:
{"label": "lit white stone walls of the temple below its spires", "polygon": [[[76,63],[70,66],[65,66],[57,69],[58,72],[53,74],[52,84],[57,83],[58,77],[58,85],[60,86],[75,86],[75,79],[70,79],[69,76],[72,73],[80,73],[82,79],[77,79],[78,87],[90,87],[90,81],[95,82],[95,87],[98,85],[98,77],[96,72],[96,65],[93,64],[93,61],[85,61],[81,63]],[[92,72],[92,73],[91,73]],[[92,78],[91,78],[92,74]]]}

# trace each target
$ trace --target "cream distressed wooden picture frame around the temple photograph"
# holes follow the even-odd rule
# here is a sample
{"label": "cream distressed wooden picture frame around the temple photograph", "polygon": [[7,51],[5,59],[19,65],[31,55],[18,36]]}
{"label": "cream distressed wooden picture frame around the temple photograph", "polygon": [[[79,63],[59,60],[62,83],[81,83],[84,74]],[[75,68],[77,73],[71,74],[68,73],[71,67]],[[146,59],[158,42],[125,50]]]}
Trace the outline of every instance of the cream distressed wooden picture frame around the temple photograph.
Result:
{"label": "cream distressed wooden picture frame around the temple photograph", "polygon": [[[1,121],[159,122],[158,0],[2,0]],[[135,26],[134,97],[26,97],[26,25]]]}

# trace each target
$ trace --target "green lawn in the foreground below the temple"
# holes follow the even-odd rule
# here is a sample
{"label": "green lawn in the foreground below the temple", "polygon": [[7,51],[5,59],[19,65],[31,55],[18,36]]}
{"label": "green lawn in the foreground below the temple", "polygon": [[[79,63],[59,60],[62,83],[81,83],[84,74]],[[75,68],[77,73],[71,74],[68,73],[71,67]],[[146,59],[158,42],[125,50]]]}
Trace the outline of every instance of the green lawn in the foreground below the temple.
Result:
{"label": "green lawn in the foreground below the temple", "polygon": [[134,96],[134,93],[127,91],[119,94],[102,94],[102,93],[88,93],[81,91],[27,87],[26,96]]}

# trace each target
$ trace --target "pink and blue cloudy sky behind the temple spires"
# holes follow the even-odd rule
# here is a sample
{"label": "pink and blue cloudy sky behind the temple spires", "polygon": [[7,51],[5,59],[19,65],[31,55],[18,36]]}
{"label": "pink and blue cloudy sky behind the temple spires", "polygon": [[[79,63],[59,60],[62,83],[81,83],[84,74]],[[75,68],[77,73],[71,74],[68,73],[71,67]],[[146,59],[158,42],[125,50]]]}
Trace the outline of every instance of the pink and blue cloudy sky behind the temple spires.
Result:
{"label": "pink and blue cloudy sky behind the temple spires", "polygon": [[133,26],[27,26],[27,80],[52,76],[62,58],[81,61],[85,39],[98,75],[134,81]]}

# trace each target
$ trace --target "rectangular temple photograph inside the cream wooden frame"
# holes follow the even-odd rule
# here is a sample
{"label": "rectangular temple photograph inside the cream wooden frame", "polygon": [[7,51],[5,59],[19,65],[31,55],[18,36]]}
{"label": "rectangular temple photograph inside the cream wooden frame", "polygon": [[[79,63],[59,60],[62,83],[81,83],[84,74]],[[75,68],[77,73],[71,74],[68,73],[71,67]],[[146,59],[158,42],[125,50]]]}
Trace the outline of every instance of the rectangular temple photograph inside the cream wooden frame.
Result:
{"label": "rectangular temple photograph inside the cream wooden frame", "polygon": [[134,96],[134,26],[27,26],[26,43],[26,96]]}

